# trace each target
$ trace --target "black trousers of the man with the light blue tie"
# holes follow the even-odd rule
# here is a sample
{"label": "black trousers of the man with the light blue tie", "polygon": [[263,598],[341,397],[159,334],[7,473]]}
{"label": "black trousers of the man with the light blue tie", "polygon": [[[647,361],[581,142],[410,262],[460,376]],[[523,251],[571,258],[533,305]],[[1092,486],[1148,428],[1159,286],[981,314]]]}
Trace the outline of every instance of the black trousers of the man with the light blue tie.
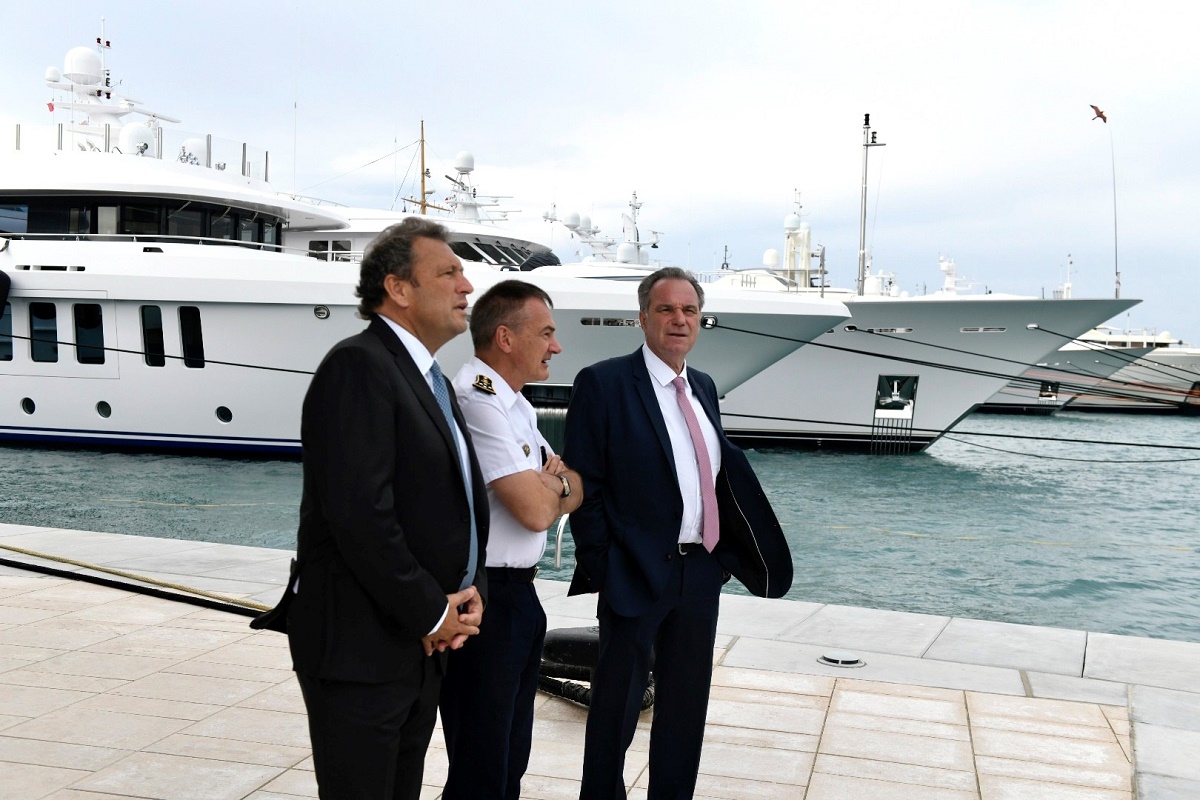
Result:
{"label": "black trousers of the man with the light blue tie", "polygon": [[442,676],[425,658],[419,681],[358,684],[296,674],[320,800],[418,800]]}

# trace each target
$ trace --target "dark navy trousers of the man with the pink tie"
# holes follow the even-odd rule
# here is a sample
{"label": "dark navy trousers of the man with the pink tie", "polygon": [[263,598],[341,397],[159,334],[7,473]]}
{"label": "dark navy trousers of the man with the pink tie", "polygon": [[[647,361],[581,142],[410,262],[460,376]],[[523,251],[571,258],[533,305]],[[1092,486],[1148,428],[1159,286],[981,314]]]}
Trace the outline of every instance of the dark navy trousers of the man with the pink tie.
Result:
{"label": "dark navy trousers of the man with the pink tie", "polygon": [[640,616],[617,614],[600,591],[600,661],[592,679],[581,800],[624,800],[625,751],[634,740],[652,658],[655,698],[647,798],[685,800],[696,789],[721,569],[702,548],[673,560],[670,584]]}

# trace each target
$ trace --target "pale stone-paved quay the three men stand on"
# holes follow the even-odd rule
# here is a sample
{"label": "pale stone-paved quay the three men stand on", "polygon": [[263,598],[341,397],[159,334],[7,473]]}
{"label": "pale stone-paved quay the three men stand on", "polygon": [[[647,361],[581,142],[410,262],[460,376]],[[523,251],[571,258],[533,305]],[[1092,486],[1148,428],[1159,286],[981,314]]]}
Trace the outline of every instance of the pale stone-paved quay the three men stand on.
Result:
{"label": "pale stone-paved quay the three men stand on", "polygon": [[[20,525],[0,546],[268,604],[290,559]],[[593,622],[594,599],[538,590],[551,628]],[[316,798],[286,638],[246,622],[0,566],[0,800]],[[865,666],[818,662],[832,650]],[[713,655],[697,798],[1200,798],[1200,644],[725,595]],[[539,696],[523,796],[577,796],[586,716]],[[434,732],[422,798],[444,774]]]}

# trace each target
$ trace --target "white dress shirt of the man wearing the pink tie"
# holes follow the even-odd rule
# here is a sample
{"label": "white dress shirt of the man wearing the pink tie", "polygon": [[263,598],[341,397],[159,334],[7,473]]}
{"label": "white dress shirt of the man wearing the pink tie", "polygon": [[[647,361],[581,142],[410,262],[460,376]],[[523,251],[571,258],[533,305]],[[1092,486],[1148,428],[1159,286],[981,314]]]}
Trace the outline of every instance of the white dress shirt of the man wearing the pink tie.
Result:
{"label": "white dress shirt of the man wearing the pink tie", "polygon": [[[671,439],[671,455],[674,457],[676,475],[679,476],[679,493],[683,495],[683,521],[679,524],[679,542],[701,542],[703,540],[704,511],[700,500],[700,465],[696,462],[696,449],[691,444],[691,432],[688,431],[688,421],[683,417],[683,409],[676,398],[676,387],[671,384],[677,377],[674,369],[668,367],[662,359],[654,355],[650,348],[642,345],[642,355],[646,357],[646,368],[650,373],[650,385],[654,386],[654,397],[659,401],[662,410],[662,420],[667,423],[667,435]],[[700,422],[700,431],[704,434],[704,446],[708,449],[708,461],[713,468],[713,481],[721,471],[721,441],[716,437],[716,428],[708,421],[703,407],[691,391],[691,383],[688,381],[688,365],[684,363],[684,383],[686,384],[688,401],[696,413],[696,421]],[[491,548],[491,545],[488,545]]]}

